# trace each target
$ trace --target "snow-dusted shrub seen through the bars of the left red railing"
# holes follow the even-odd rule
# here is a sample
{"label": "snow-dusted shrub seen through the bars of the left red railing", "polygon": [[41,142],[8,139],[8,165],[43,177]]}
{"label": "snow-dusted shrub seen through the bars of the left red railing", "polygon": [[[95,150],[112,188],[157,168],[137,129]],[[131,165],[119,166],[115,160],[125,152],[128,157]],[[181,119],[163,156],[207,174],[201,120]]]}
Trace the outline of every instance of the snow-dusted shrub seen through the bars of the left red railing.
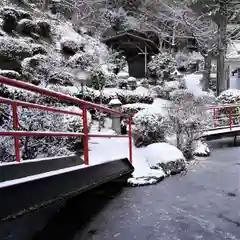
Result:
{"label": "snow-dusted shrub seen through the bars of the left red railing", "polygon": [[[61,107],[69,111],[78,111],[77,107]],[[12,128],[11,111],[6,106],[0,106],[0,129]],[[82,132],[83,123],[80,116],[71,116],[45,112],[38,109],[19,107],[19,129],[24,131],[59,131],[59,132]],[[88,114],[88,124],[91,118]],[[0,159],[5,162],[14,161],[13,139],[0,138]],[[21,137],[21,158],[34,159],[39,157],[61,156],[80,154],[83,150],[82,137]]]}

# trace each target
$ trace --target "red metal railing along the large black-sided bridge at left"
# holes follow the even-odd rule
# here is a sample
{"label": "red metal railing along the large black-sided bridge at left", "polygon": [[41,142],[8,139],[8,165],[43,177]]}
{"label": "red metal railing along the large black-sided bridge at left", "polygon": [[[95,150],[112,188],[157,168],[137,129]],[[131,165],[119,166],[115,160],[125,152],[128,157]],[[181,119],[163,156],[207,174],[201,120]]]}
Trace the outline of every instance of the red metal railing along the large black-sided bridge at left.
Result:
{"label": "red metal railing along the large black-sided bridge at left", "polygon": [[[33,104],[33,103],[28,103],[28,102],[22,102],[22,101],[17,101],[17,100],[11,100],[8,98],[2,98],[0,97],[0,102],[5,103],[5,104],[10,104],[12,106],[12,117],[13,117],[13,130],[14,131],[1,131],[0,136],[12,136],[14,138],[14,147],[15,147],[15,155],[16,155],[16,161],[20,162],[21,160],[21,152],[20,152],[20,142],[19,142],[19,137],[42,137],[42,136],[52,136],[52,137],[80,137],[83,136],[83,143],[84,143],[84,161],[85,164],[89,164],[89,156],[88,156],[88,138],[89,137],[99,137],[99,138],[128,138],[129,140],[129,161],[132,163],[132,128],[131,128],[131,123],[132,123],[132,116],[123,114],[119,111],[115,111],[113,109],[97,105],[94,103],[90,103],[63,93],[43,89],[40,87],[37,87],[35,85],[18,81],[18,80],[13,80],[9,79],[3,76],[0,76],[0,83],[21,88],[24,90],[28,90],[34,93],[39,93],[45,96],[57,98],[58,100],[62,101],[67,101],[69,103],[78,105],[82,109],[82,113],[77,113],[77,112],[72,112],[72,111],[67,111],[67,110],[61,110],[53,107],[47,107],[44,105],[39,105],[39,104]],[[70,114],[70,115],[76,115],[76,116],[81,116],[83,120],[83,133],[75,133],[75,132],[40,132],[40,131],[18,131],[19,124],[18,124],[18,111],[17,107],[18,106],[23,106],[23,107],[28,107],[28,108],[37,108],[41,109],[44,111],[51,111],[55,113],[62,113],[62,114]],[[112,115],[117,115],[121,116],[124,118],[128,119],[128,136],[123,136],[123,135],[102,135],[102,134],[89,134],[88,133],[88,123],[87,123],[87,109],[97,109],[102,112],[110,113]]]}

